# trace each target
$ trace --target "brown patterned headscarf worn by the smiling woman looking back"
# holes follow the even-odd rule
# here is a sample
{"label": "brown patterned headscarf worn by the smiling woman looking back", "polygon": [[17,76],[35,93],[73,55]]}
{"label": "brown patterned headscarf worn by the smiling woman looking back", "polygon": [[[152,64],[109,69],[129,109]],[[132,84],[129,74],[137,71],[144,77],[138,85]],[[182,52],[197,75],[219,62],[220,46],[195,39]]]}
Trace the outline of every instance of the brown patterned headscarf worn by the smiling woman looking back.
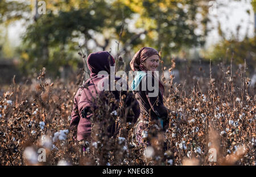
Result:
{"label": "brown patterned headscarf worn by the smiling woman looking back", "polygon": [[[158,51],[151,47],[143,47],[138,52],[136,52],[133,56],[133,59],[130,62],[131,70],[133,71],[148,71],[143,65],[142,62],[147,60],[147,58],[151,57],[154,54],[158,54]],[[160,56],[159,56],[160,57]],[[154,72],[152,72],[152,75],[155,77]],[[158,79],[156,77],[156,79]],[[164,93],[164,86],[163,83],[158,79],[159,81],[159,90],[161,91],[161,94]]]}

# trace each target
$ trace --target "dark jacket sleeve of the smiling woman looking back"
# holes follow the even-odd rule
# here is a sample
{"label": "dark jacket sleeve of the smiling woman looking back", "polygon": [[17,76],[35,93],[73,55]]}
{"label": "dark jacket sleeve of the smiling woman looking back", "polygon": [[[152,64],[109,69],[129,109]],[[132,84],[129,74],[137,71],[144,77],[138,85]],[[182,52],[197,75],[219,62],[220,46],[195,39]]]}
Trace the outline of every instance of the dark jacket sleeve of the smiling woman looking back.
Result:
{"label": "dark jacket sleeve of the smiling woman looking back", "polygon": [[148,103],[150,104],[150,107],[152,109],[152,111],[154,111],[154,113],[161,119],[167,119],[168,117],[168,109],[164,106],[163,104],[163,99],[160,98],[160,94],[159,94],[159,88],[158,87],[154,87],[154,89],[156,89],[156,92],[157,92],[157,96],[152,96],[152,95],[149,95],[150,93],[152,94],[155,90],[148,90],[148,87],[147,87],[147,82],[148,82],[148,79],[151,79],[151,83],[152,83],[152,87],[154,87],[154,78],[146,75],[145,77],[142,78],[142,85],[146,85],[146,97],[147,97],[147,100],[148,100]]}

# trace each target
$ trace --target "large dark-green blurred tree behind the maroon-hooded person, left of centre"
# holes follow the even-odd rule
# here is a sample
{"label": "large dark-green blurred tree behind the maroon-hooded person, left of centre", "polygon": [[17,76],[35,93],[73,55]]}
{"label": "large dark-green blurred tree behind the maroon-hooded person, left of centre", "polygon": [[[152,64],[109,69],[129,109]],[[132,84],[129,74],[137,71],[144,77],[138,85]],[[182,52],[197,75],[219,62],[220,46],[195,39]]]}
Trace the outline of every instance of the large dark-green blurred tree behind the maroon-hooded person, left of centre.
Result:
{"label": "large dark-green blurred tree behind the maroon-hooded person, left of centre", "polygon": [[[117,38],[122,28],[123,19],[131,14],[128,7],[120,2],[106,1],[46,1],[47,14],[40,15],[36,22],[27,28],[23,36],[22,68],[40,69],[46,66],[50,71],[57,71],[59,66],[76,66],[80,57],[77,40],[82,37],[94,40],[98,47],[105,50],[112,38]],[[98,43],[91,32],[113,32],[105,36],[105,44]],[[122,40],[133,36],[125,32]],[[86,46],[86,43],[84,44]],[[89,51],[88,51],[89,52]],[[55,73],[56,74],[56,73]]]}

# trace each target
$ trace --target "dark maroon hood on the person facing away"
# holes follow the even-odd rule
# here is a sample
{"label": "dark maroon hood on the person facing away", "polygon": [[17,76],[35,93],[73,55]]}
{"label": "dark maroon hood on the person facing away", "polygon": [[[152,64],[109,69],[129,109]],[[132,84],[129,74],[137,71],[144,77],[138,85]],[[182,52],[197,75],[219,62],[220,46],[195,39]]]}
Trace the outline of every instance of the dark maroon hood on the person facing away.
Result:
{"label": "dark maroon hood on the person facing away", "polygon": [[87,57],[87,64],[90,70],[90,77],[94,77],[100,71],[107,71],[110,74],[110,66],[114,66],[115,60],[109,52],[94,52]]}

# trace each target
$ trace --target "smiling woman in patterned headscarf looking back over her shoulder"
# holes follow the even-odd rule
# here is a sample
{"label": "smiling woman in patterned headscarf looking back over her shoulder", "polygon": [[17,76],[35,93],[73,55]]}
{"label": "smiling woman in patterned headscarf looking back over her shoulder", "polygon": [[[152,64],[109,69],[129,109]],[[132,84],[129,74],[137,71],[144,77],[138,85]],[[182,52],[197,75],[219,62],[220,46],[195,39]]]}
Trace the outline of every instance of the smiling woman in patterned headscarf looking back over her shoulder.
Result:
{"label": "smiling woman in patterned headscarf looking back over her shoulder", "polygon": [[[150,125],[155,125],[159,130],[168,127],[168,109],[163,104],[164,86],[155,72],[159,65],[159,59],[157,50],[143,47],[135,53],[130,62],[131,69],[137,71],[131,88],[141,109],[134,130],[136,144],[147,145],[149,143],[144,141],[144,138],[147,137]],[[154,90],[148,89],[148,82],[153,83]],[[157,91],[156,95],[150,96],[155,90]]]}

